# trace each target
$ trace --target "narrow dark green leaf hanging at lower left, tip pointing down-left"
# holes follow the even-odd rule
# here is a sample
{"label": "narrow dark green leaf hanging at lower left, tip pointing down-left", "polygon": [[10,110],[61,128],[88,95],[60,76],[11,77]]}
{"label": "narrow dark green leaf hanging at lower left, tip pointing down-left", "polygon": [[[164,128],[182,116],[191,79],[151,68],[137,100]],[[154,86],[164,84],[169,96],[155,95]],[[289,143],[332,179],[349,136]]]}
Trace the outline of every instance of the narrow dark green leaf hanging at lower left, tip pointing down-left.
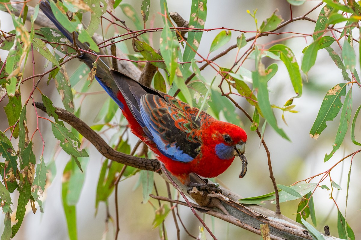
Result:
{"label": "narrow dark green leaf hanging at lower left, tip pointing down-left", "polygon": [[25,216],[25,206],[29,202],[31,193],[31,185],[28,181],[25,181],[23,186],[19,186],[19,198],[18,198],[18,206],[16,209],[16,216],[15,219],[18,220],[15,225],[12,226],[12,238],[18,232],[21,223]]}

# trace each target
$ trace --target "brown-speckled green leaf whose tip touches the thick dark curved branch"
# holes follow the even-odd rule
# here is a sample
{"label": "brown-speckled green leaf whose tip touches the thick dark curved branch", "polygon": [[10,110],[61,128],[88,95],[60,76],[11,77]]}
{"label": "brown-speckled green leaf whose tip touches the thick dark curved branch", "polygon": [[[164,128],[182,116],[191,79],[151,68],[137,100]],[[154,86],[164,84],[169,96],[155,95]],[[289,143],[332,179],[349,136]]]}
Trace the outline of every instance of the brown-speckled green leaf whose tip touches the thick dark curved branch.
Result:
{"label": "brown-speckled green leaf whose tip touches the thick dark curved branch", "polygon": [[71,91],[69,76],[65,70],[65,65],[61,66],[60,71],[56,75],[55,85],[65,109],[68,112],[74,113],[73,92]]}

